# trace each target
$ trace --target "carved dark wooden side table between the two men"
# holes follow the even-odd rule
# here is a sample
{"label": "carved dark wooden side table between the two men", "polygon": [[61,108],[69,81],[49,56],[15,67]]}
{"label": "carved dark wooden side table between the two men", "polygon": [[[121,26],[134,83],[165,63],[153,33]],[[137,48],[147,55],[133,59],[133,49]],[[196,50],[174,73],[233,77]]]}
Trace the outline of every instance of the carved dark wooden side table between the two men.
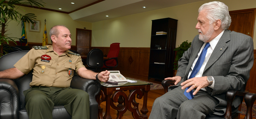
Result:
{"label": "carved dark wooden side table between the two men", "polygon": [[[133,79],[129,79],[133,80]],[[135,80],[137,81],[137,80]],[[122,84],[123,82],[119,82]],[[123,114],[127,111],[127,109],[131,112],[134,119],[147,119],[148,113],[147,110],[147,93],[150,91],[151,83],[146,83],[142,81],[137,81],[137,83],[125,83],[122,85],[110,85],[104,82],[101,82],[101,92],[100,95],[97,96],[97,102],[99,104],[98,108],[98,117],[99,119],[112,119],[110,115],[110,107],[117,110],[117,118],[121,119]],[[130,94],[127,96],[125,94],[125,90],[129,90]],[[115,92],[114,92],[115,91]],[[113,93],[114,92],[114,93]],[[136,94],[138,94],[137,98],[143,98],[143,106],[139,111],[139,103],[136,102]],[[100,98],[101,96],[101,98]],[[103,108],[100,107],[102,102],[106,101],[106,112],[103,116],[102,111]],[[114,102],[118,102],[117,106],[114,105]],[[132,107],[132,105],[134,107]],[[140,112],[142,114],[140,114]]]}

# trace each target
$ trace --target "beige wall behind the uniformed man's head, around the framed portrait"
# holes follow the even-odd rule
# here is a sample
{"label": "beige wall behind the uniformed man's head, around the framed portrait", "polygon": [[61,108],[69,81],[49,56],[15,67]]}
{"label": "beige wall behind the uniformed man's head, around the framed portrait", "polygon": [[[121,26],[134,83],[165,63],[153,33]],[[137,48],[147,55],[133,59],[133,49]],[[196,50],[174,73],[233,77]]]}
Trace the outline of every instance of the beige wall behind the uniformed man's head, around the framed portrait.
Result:
{"label": "beige wall behind the uniformed man's head, around the framed portrait", "polygon": [[[20,13],[27,14],[27,13],[33,13],[35,16],[37,16],[37,20],[40,20],[40,32],[31,32],[29,31],[29,24],[26,23],[26,31],[27,31],[27,38],[28,42],[33,43],[42,43],[43,40],[43,33],[44,33],[44,19],[46,19],[46,30],[48,35],[48,43],[51,43],[51,39],[49,37],[49,31],[50,29],[55,25],[66,25],[70,33],[72,35],[72,45],[75,45],[75,35],[76,35],[76,28],[84,29],[84,27],[88,30],[91,30],[91,23],[89,22],[82,22],[82,21],[75,21],[73,20],[68,14],[64,13],[58,13],[58,12],[52,12],[52,11],[46,11],[46,10],[40,10],[36,8],[30,8],[30,7],[22,7],[24,11],[21,9],[18,9]],[[8,29],[9,31],[6,32],[7,34],[10,34],[9,37],[18,37],[20,38],[22,35],[22,28],[21,25],[15,21],[11,21],[9,23]]]}

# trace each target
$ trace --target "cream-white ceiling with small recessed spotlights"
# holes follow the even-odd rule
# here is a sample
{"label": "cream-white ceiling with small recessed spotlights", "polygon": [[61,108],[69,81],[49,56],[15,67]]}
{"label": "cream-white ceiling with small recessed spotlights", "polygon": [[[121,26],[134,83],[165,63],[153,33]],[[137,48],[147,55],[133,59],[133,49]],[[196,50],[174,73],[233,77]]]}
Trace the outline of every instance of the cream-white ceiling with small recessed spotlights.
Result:
{"label": "cream-white ceiling with small recessed spotlights", "polygon": [[[97,22],[203,0],[43,0],[44,8],[69,13],[73,20]],[[75,4],[71,4],[74,2]],[[88,6],[88,4],[98,2]],[[85,8],[84,7],[87,6]],[[146,8],[142,8],[146,6]],[[62,8],[59,10],[59,8]],[[80,8],[81,10],[77,10]],[[108,15],[109,17],[106,17]]]}

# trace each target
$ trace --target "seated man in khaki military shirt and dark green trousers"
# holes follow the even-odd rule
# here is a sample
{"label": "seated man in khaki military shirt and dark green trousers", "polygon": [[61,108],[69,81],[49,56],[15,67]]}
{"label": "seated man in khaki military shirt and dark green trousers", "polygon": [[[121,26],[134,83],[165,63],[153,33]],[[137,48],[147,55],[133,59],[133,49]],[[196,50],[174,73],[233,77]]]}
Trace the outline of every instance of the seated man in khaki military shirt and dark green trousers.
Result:
{"label": "seated man in khaki military shirt and dark green trousers", "polygon": [[72,119],[89,119],[89,95],[71,89],[74,71],[86,79],[109,80],[109,71],[87,70],[81,56],[70,52],[71,34],[62,25],[51,28],[52,46],[35,46],[15,65],[0,72],[0,78],[17,79],[33,69],[31,89],[25,90],[26,109],[30,119],[52,119],[53,106],[64,105]]}

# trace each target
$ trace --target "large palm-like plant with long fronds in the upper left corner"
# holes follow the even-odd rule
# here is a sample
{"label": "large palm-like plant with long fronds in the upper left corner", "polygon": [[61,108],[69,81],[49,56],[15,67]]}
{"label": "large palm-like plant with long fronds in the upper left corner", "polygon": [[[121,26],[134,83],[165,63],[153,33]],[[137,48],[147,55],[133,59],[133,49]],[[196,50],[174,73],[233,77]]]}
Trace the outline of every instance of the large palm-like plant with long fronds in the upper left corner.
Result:
{"label": "large palm-like plant with long fronds in the upper left corner", "polygon": [[[42,0],[0,0],[0,57],[3,55],[3,52],[6,53],[4,46],[4,42],[9,44],[9,41],[13,41],[15,44],[16,42],[14,39],[20,39],[20,38],[14,38],[14,37],[8,37],[9,34],[6,34],[6,31],[8,31],[8,23],[12,20],[20,23],[21,20],[24,20],[25,22],[33,22],[33,19],[36,19],[35,14],[21,14],[17,11],[19,8],[20,10],[23,10],[20,8],[20,5],[31,5],[37,6],[37,7],[44,7]],[[20,34],[21,35],[21,34]]]}

